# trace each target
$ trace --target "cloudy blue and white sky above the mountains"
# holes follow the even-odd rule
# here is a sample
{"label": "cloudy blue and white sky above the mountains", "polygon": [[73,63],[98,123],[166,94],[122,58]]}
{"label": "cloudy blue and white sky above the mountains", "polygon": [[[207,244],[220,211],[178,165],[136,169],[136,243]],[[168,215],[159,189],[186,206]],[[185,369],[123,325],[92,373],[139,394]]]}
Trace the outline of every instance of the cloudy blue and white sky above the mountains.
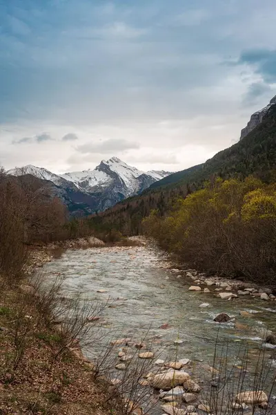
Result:
{"label": "cloudy blue and white sky above the mountains", "polygon": [[276,94],[275,0],[0,0],[0,164],[176,171]]}

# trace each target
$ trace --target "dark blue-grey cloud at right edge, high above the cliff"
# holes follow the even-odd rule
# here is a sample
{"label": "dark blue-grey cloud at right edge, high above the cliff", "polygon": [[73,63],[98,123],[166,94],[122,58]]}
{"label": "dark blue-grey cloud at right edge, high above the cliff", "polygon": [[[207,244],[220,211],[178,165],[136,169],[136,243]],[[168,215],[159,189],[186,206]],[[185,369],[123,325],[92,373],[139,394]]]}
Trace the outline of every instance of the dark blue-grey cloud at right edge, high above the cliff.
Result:
{"label": "dark blue-grey cloud at right edge, high above the cliff", "polygon": [[238,63],[252,65],[264,82],[276,82],[276,50],[246,50],[240,55]]}

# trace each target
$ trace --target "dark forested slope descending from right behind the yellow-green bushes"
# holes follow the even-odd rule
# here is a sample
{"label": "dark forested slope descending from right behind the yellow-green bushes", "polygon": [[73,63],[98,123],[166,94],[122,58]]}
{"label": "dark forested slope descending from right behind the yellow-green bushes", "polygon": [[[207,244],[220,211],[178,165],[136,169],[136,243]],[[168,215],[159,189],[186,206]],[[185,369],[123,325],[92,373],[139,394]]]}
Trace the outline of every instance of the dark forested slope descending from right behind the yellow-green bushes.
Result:
{"label": "dark forested slope descending from right behind the yellow-green bushes", "polygon": [[135,196],[118,203],[112,209],[94,216],[97,226],[120,230],[123,234],[141,232],[141,221],[158,210],[165,215],[179,197],[204,187],[204,183],[215,178],[239,178],[249,175],[262,179],[264,183],[276,181],[276,105],[270,108],[248,136],[232,147],[219,151],[203,165],[197,165],[183,172],[172,174],[152,185],[141,196]]}

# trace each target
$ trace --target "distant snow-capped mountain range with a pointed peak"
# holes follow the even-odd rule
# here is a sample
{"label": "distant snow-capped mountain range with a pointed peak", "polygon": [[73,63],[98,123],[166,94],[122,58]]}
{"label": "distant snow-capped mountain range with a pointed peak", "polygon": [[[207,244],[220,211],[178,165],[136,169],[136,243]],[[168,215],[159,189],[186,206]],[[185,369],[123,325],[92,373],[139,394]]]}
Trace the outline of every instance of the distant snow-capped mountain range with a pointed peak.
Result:
{"label": "distant snow-capped mountain range with a pointed peak", "polygon": [[[95,169],[82,172],[55,174],[43,167],[27,165],[8,171],[12,176],[31,174],[42,180],[50,181],[57,189],[62,190],[62,199],[66,205],[85,203],[88,209],[85,213],[106,210],[117,202],[143,192],[152,183],[170,174],[170,172],[155,171],[142,172],[131,167],[117,157],[102,160]],[[64,196],[64,192],[66,196]],[[71,203],[72,202],[72,203]]]}

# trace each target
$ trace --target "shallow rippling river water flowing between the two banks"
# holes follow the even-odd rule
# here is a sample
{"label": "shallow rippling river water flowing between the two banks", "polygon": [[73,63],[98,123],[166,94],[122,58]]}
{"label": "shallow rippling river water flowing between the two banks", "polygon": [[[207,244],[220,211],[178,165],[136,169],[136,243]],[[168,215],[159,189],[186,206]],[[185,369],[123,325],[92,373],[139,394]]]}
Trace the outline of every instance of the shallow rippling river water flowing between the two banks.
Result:
{"label": "shallow rippling river water flowing between the two banks", "polygon": [[[97,357],[107,339],[109,343],[122,337],[135,341],[146,338],[148,348],[159,358],[177,349],[179,359],[212,365],[219,329],[219,342],[228,340],[231,356],[237,355],[246,341],[249,356],[254,358],[266,331],[276,331],[276,302],[249,295],[226,301],[219,299],[215,291],[188,291],[191,280],[184,272],[161,268],[163,259],[154,248],[89,248],[67,250],[43,267],[47,279],[56,275],[65,278],[64,297],[81,293],[91,302],[107,302],[101,319],[95,323],[95,329],[106,335],[85,353],[90,358]],[[201,308],[202,303],[209,306]],[[250,312],[251,317],[239,315],[242,310]],[[214,317],[222,312],[233,316],[233,320],[215,323]],[[175,340],[181,344],[176,346]],[[271,350],[268,356],[269,353]]]}

